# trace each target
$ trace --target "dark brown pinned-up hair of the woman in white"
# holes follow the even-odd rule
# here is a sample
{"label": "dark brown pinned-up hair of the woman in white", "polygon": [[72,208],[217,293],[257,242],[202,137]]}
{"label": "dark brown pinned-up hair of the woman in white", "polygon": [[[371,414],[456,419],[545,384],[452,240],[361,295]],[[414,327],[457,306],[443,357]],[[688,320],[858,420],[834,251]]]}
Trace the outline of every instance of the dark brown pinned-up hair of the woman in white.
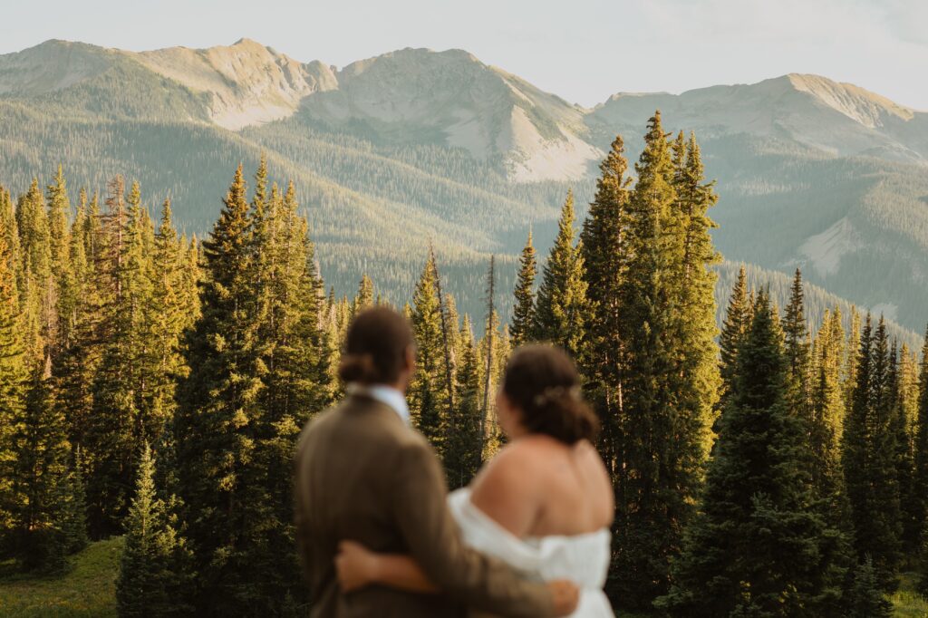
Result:
{"label": "dark brown pinned-up hair of the woman in white", "polygon": [[564,444],[593,441],[599,419],[580,393],[574,361],[561,348],[526,345],[509,357],[503,393],[522,411],[522,427]]}

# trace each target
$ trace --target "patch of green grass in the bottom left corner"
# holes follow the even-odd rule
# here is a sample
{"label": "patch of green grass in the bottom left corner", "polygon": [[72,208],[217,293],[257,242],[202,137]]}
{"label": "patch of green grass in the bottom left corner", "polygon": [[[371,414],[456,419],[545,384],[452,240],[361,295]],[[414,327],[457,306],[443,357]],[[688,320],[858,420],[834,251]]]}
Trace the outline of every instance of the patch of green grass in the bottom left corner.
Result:
{"label": "patch of green grass in the bottom left corner", "polygon": [[0,618],[115,616],[121,549],[121,537],[93,543],[57,577],[0,575]]}

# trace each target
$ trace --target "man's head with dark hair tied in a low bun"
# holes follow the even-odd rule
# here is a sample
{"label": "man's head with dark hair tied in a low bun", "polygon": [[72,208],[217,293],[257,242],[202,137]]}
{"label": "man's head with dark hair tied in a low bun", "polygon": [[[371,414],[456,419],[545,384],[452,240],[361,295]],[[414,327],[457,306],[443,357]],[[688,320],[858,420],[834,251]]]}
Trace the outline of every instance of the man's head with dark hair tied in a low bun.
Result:
{"label": "man's head with dark hair tied in a low bun", "polygon": [[339,377],[345,382],[393,384],[406,368],[412,328],[403,315],[374,307],[354,317],[345,337]]}

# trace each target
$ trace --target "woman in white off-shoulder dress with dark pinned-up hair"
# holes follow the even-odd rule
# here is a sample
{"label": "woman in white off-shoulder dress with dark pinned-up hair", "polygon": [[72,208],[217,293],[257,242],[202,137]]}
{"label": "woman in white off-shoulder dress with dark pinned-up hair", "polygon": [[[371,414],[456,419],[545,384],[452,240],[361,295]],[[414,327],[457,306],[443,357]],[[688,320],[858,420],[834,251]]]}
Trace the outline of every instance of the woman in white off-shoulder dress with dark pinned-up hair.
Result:
{"label": "woman in white off-shoulder dress with dark pinned-up hair", "polygon": [[[612,617],[602,592],[609,568],[612,484],[591,440],[597,420],[570,357],[548,345],[512,354],[496,396],[509,438],[469,487],[448,496],[465,541],[529,576],[581,588],[576,618]],[[392,586],[435,590],[410,557],[344,541],[336,559],[345,592]]]}

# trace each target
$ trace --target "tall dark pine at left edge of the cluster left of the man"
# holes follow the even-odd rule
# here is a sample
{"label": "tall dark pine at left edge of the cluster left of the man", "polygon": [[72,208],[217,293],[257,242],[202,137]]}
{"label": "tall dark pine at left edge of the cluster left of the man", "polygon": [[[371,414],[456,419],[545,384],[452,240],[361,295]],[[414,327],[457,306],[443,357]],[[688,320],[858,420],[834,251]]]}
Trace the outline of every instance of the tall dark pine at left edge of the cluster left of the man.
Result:
{"label": "tall dark pine at left edge of the cluster left of the man", "polygon": [[245,191],[239,165],[219,220],[202,243],[201,314],[187,336],[190,373],[178,385],[174,421],[177,459],[183,462],[178,485],[199,573],[199,586],[191,592],[201,612],[240,607],[237,593],[247,556],[236,538],[253,506],[241,500],[249,489],[243,475],[254,457],[251,425],[261,389]]}

